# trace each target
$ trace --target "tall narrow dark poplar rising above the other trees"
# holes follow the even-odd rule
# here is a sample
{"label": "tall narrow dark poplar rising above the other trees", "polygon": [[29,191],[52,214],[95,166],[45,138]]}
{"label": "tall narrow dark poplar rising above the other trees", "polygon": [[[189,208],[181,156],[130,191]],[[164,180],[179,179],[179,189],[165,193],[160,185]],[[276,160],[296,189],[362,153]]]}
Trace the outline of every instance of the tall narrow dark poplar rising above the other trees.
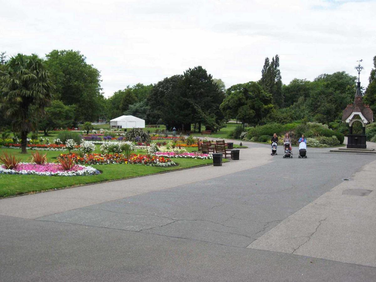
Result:
{"label": "tall narrow dark poplar rising above the other trees", "polygon": [[279,56],[276,55],[269,62],[269,58],[265,58],[264,67],[261,70],[261,79],[259,84],[265,91],[273,96],[274,103],[282,107],[284,105],[284,97],[282,94],[282,76],[279,70]]}

